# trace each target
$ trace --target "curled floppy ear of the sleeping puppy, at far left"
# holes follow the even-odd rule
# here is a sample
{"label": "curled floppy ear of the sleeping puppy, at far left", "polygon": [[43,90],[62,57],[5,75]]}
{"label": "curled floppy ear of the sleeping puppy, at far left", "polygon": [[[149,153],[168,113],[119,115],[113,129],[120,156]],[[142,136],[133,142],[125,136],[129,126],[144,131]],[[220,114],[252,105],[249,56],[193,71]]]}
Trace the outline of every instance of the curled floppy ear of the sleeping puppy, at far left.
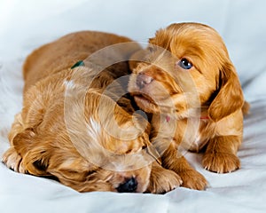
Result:
{"label": "curled floppy ear of the sleeping puppy, at far left", "polygon": [[[13,146],[22,157],[22,163],[29,174],[35,176],[49,175],[48,168],[49,156],[47,147],[34,146],[36,135],[33,129],[26,129],[18,133],[13,138]],[[41,143],[40,143],[41,144]]]}

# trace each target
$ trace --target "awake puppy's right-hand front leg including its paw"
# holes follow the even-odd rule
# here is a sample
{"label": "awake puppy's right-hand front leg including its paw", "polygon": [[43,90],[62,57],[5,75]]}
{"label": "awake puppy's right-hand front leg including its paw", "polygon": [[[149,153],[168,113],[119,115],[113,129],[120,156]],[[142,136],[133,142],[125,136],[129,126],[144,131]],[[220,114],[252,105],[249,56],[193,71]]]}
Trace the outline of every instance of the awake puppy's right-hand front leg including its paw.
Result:
{"label": "awake puppy's right-hand front leg including its paw", "polygon": [[203,167],[217,173],[238,170],[240,161],[237,151],[240,143],[241,137],[238,136],[220,136],[210,139],[203,155]]}

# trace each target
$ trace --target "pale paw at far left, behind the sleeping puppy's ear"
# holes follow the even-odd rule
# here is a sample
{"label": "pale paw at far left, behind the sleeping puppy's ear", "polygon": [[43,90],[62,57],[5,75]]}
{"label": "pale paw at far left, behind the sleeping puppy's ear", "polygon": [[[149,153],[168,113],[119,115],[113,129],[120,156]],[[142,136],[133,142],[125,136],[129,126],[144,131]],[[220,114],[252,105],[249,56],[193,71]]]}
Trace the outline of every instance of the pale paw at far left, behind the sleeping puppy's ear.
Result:
{"label": "pale paw at far left, behind the sleeping puppy's ear", "polygon": [[17,153],[15,148],[11,146],[3,155],[2,162],[11,170],[26,173],[24,167],[22,166],[22,158],[20,154]]}

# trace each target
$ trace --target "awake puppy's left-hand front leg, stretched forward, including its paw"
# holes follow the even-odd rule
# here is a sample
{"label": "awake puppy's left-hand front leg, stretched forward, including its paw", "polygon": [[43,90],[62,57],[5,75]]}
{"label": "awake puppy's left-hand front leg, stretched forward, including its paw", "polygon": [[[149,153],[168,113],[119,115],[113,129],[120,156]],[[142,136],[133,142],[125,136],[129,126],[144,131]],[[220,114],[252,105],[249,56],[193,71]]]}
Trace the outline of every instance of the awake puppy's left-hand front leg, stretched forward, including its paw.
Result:
{"label": "awake puppy's left-hand front leg, stretched forward, including its paw", "polygon": [[174,170],[183,180],[181,186],[196,190],[204,190],[207,180],[186,161],[183,155],[178,154],[176,146],[171,144],[162,155],[163,166]]}

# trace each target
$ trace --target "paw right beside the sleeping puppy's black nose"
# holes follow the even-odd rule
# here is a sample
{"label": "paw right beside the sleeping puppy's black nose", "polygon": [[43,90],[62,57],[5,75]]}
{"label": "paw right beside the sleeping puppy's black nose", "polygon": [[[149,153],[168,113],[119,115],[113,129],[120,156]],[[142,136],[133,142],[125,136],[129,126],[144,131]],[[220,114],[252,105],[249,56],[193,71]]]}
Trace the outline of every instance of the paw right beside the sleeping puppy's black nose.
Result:
{"label": "paw right beside the sleeping puppy's black nose", "polygon": [[167,193],[182,185],[182,179],[176,172],[164,168],[152,170],[147,193]]}

